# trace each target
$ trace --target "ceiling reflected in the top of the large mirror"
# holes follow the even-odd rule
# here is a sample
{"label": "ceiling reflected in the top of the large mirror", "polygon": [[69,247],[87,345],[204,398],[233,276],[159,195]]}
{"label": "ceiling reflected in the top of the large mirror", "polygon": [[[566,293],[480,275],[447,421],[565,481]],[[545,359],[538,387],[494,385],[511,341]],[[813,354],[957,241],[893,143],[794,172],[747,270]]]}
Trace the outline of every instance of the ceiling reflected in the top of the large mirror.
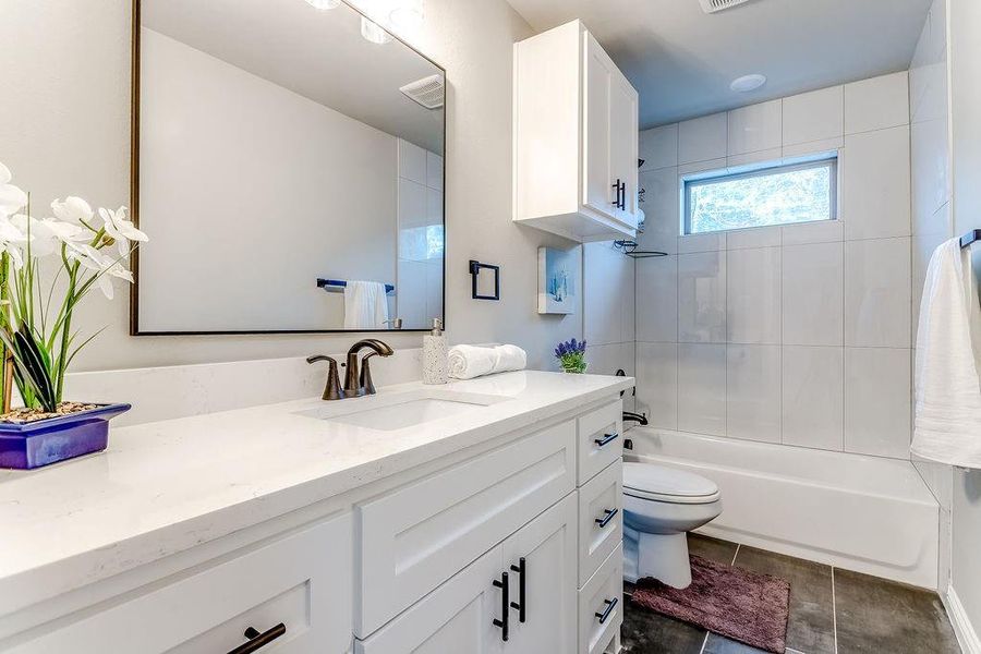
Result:
{"label": "ceiling reflected in the top of the large mirror", "polygon": [[361,36],[346,4],[317,10],[305,0],[143,0],[142,25],[278,84],[383,132],[443,152],[443,110],[399,87],[440,73],[398,41]]}

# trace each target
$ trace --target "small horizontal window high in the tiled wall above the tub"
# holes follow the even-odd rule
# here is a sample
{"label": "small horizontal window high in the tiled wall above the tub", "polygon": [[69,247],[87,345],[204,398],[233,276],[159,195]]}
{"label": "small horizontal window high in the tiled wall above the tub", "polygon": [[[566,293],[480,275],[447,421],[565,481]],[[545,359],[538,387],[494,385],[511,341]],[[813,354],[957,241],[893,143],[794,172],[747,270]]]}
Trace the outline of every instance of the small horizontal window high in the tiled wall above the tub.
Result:
{"label": "small horizontal window high in the tiled wall above the tub", "polygon": [[834,220],[837,156],[685,180],[685,233]]}

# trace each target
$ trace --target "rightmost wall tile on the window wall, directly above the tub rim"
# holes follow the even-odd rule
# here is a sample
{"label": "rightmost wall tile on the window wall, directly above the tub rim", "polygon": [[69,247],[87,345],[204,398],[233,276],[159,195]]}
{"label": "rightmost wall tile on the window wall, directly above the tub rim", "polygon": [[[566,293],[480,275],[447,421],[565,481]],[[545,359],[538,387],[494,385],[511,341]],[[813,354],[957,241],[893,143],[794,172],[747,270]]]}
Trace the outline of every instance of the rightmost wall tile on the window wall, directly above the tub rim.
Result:
{"label": "rightmost wall tile on the window wall, directly above the tub rim", "polygon": [[845,450],[909,458],[910,351],[845,350]]}

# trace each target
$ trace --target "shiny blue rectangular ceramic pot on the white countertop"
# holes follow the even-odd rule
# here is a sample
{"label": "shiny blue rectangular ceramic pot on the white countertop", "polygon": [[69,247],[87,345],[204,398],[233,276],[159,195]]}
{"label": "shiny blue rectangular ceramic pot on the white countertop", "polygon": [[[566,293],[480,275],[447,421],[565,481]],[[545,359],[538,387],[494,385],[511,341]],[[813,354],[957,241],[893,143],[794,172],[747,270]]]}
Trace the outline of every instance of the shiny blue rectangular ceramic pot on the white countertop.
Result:
{"label": "shiny blue rectangular ceramic pot on the white countertop", "polygon": [[0,422],[0,468],[31,470],[104,450],[109,444],[109,420],[130,409],[130,404],[102,404],[32,423]]}

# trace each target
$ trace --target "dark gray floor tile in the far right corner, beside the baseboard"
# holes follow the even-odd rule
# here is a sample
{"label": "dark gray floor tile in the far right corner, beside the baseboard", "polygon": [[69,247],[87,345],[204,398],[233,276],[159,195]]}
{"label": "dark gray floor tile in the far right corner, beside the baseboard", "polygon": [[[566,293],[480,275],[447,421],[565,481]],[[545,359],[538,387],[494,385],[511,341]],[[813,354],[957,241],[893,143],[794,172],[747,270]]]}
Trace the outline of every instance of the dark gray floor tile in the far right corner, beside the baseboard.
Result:
{"label": "dark gray floor tile in the far right corner, beside the baseboard", "polygon": [[835,604],[839,654],[960,652],[936,593],[836,568]]}

